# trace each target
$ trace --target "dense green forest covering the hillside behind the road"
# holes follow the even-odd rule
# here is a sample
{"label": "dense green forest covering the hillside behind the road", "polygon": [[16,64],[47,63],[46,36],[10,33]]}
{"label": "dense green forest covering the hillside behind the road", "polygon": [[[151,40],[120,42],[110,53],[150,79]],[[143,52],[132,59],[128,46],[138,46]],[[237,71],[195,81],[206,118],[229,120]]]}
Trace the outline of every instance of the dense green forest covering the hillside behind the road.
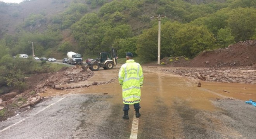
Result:
{"label": "dense green forest covering the hillside behind the road", "polygon": [[[3,6],[12,5],[0,2]],[[32,55],[31,40],[38,57],[74,51],[88,58],[114,47],[119,58],[130,51],[142,62],[157,61],[158,16],[161,58],[193,58],[204,50],[256,39],[255,0],[71,0],[65,7],[50,17],[31,13],[15,34],[0,31],[0,84],[7,83],[2,77],[12,71],[12,56]]]}

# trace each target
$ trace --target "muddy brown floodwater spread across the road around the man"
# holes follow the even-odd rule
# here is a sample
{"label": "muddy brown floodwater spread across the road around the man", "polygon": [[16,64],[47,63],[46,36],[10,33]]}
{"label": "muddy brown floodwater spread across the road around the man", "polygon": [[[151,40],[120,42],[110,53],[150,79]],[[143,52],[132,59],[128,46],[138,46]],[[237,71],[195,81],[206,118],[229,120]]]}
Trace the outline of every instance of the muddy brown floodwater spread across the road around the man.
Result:
{"label": "muddy brown floodwater spread across the road around the man", "polygon": [[[75,88],[71,90],[55,90],[48,88],[45,93],[40,93],[42,97],[64,95],[67,93],[102,93],[113,96],[112,102],[120,103],[122,92],[118,83],[118,68],[113,70],[95,71],[95,75],[87,81],[69,84],[70,86],[91,84],[93,82],[105,83],[111,79],[116,79],[112,83],[104,85],[90,86],[87,88]],[[194,108],[203,110],[214,110],[211,99],[240,99],[256,100],[256,85],[243,83],[210,83],[201,82],[201,87],[197,87],[197,82],[188,78],[175,75],[152,73],[144,71],[144,86],[142,87],[142,104],[149,106],[150,103],[161,105],[171,105],[174,98],[179,98],[189,102]],[[161,100],[157,100],[161,98]],[[170,102],[170,103],[169,103]]]}

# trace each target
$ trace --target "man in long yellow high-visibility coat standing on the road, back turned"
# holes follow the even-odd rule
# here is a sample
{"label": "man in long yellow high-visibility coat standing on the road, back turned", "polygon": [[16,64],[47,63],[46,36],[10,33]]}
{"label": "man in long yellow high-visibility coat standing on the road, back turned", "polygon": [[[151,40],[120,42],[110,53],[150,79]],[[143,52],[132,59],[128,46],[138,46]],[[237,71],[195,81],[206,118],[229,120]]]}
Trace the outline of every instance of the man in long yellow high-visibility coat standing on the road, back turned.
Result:
{"label": "man in long yellow high-visibility coat standing on the road, back turned", "polygon": [[126,63],[118,73],[118,81],[123,89],[124,115],[123,119],[129,119],[129,105],[133,104],[135,116],[140,117],[140,88],[143,86],[143,72],[140,64],[133,60],[133,54],[126,53]]}

